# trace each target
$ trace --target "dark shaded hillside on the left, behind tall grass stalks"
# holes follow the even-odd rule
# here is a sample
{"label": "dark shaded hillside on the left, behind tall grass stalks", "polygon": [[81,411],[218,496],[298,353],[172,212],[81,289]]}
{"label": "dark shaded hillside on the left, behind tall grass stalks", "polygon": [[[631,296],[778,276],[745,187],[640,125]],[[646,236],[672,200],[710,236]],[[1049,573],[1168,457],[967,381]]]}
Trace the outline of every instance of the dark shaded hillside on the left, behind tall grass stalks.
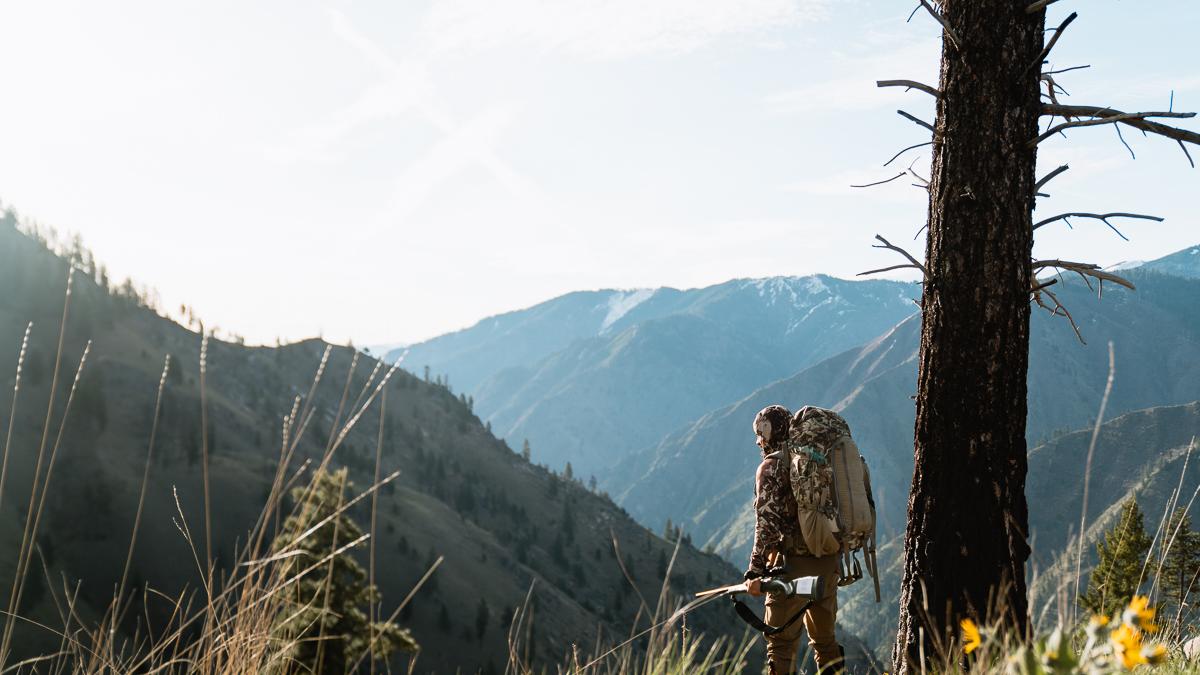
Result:
{"label": "dark shaded hillside on the left, behind tall grass stalks", "polygon": [[[24,614],[49,626],[61,625],[50,595],[53,589],[61,595],[60,575],[71,585],[82,583],[83,617],[108,603],[120,578],[166,354],[173,354],[173,368],[149,465],[131,587],[174,596],[199,583],[192,551],[175,526],[186,518],[193,534],[203,532],[199,336],[140,306],[132,292],[109,292],[97,282],[101,271],[84,256],[77,258],[86,269],[74,277],[52,430],[74,362],[84,342],[94,342],[66,418],[38,536],[54,585],[40,572],[32,574],[22,604]],[[34,321],[0,503],[0,542],[8,551],[0,561],[5,579],[14,565],[54,380],[66,267],[18,233],[11,215],[0,221],[0,354],[16,362],[25,324]],[[302,459],[318,456],[338,419],[349,417],[337,412],[343,392],[349,392],[348,411],[359,392],[374,388],[368,377],[376,362],[359,357],[352,371],[353,351],[332,347],[310,399],[326,348],[331,346],[319,341],[282,348],[218,341],[209,346],[214,552],[224,568],[234,563],[235,545],[260,512],[280,456],[280,420],[293,401],[313,416],[289,473]],[[7,411],[13,380],[12,370],[5,370],[0,407]],[[638,526],[606,496],[523,460],[485,430],[464,398],[403,371],[385,390],[382,471],[400,470],[401,476],[382,491],[377,512],[374,552],[384,607],[395,607],[431,561],[445,556],[432,584],[401,616],[424,647],[416,671],[502,671],[508,621],[530,586],[539,663],[558,662],[572,644],[626,634],[640,601],[617,565],[613,538],[640,593],[649,598],[656,597],[673,544]],[[360,489],[371,484],[374,472],[379,411],[377,401],[335,455],[335,464],[348,466]],[[364,526],[370,522],[366,509],[354,515]],[[366,551],[359,552],[366,563]],[[716,556],[683,545],[671,586],[683,593],[736,577]],[[151,601],[146,615],[161,621],[168,610]],[[742,634],[724,608],[698,613],[689,625],[713,635]],[[54,650],[58,639],[23,625],[16,644],[35,653]]]}

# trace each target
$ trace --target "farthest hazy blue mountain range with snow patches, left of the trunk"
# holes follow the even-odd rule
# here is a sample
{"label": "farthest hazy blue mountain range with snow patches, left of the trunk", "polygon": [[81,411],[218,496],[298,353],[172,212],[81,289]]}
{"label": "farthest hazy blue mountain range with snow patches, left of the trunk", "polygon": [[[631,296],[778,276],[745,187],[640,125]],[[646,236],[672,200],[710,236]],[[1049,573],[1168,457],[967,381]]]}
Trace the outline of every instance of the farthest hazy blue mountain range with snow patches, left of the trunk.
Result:
{"label": "farthest hazy blue mountain range with snow patches, left of the trunk", "polygon": [[446,374],[500,437],[602,476],[667,431],[916,311],[919,289],[828,276],[571,293],[390,352]]}

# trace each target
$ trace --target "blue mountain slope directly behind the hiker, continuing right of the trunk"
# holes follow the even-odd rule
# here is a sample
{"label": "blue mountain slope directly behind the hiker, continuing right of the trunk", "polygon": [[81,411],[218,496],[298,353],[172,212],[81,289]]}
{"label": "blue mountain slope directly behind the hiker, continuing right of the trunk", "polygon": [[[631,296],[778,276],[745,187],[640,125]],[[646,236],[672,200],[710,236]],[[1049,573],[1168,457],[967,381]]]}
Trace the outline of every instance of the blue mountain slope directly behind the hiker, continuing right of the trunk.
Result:
{"label": "blue mountain slope directly behind the hiker, continuing right of the trunk", "polygon": [[[1068,304],[1087,345],[1062,318],[1034,313],[1031,340],[1031,443],[1086,425],[1099,405],[1108,370],[1106,342],[1116,350],[1117,384],[1110,414],[1200,399],[1200,282],[1132,270],[1138,292],[1097,299],[1068,286]],[[757,464],[749,424],[764,405],[822,405],[840,410],[872,467],[882,532],[904,518],[912,472],[916,390],[916,317],[878,340],[712,412],[624,461],[604,482],[643,522],[671,518],[697,540],[740,560],[750,476]]]}

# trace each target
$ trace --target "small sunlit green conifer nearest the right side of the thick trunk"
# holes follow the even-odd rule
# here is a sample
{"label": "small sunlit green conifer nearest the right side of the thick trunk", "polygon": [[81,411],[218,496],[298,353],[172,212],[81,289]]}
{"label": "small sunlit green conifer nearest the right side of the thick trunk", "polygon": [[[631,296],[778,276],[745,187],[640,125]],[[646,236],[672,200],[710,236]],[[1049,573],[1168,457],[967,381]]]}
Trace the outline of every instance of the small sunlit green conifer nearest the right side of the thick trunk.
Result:
{"label": "small sunlit green conifer nearest the right side of the thick trunk", "polygon": [[1121,506],[1121,519],[1096,544],[1099,561],[1087,581],[1087,592],[1080,603],[1088,610],[1114,616],[1138,592],[1150,537],[1141,519],[1141,509],[1133,497]]}

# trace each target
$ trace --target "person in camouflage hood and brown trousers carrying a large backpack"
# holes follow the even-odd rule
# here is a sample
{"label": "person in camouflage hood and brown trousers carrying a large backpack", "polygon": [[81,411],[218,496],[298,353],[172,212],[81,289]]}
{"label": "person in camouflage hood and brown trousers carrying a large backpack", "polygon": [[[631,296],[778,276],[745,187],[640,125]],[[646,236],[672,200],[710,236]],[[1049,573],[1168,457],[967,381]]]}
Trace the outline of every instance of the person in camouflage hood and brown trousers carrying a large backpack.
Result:
{"label": "person in camouflage hood and brown trousers carrying a large backpack", "polygon": [[802,611],[817,667],[840,669],[845,650],[834,628],[836,589],[862,578],[854,551],[864,552],[878,587],[866,465],[846,420],[833,411],[805,406],[793,418],[784,406],[767,406],[755,416],[754,432],[763,458],[755,474],[748,591],[762,595],[758,579],[764,577],[821,577],[826,587],[826,597],[812,603],[768,595],[766,622],[784,627],[764,634],[768,673],[792,671],[802,629],[794,617]]}

